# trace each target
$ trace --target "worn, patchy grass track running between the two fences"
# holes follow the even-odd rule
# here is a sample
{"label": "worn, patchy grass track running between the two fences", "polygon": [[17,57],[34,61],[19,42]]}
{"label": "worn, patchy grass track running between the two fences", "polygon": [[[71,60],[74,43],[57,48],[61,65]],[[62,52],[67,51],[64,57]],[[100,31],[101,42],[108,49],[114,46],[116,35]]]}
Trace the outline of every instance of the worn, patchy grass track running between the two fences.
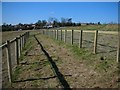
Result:
{"label": "worn, patchy grass track running between the two fences", "polygon": [[[62,76],[71,88],[117,87],[117,63],[114,59],[102,60],[85,48],[79,49],[76,45],[71,46],[44,35],[36,37],[44,45],[52,63],[35,38],[31,37],[23,51],[21,65],[14,69],[16,82],[12,87],[61,88],[62,82],[58,77]],[[57,76],[54,69],[62,76]]]}

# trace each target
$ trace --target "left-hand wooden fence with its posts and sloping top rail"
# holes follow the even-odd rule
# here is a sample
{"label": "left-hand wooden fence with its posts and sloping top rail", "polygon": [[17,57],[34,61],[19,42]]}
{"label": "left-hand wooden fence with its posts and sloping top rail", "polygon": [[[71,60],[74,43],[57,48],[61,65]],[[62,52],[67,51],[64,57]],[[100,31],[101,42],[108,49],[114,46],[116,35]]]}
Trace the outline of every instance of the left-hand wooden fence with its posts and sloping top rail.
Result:
{"label": "left-hand wooden fence with its posts and sloping top rail", "polygon": [[12,82],[12,65],[11,65],[11,44],[15,42],[15,59],[16,64],[19,65],[19,57],[21,55],[21,51],[23,50],[23,47],[25,46],[25,43],[27,42],[27,39],[29,38],[29,32],[26,32],[12,40],[7,40],[6,43],[2,44],[0,46],[1,50],[4,48],[6,49],[6,55],[7,55],[7,68],[8,68],[8,78],[9,82]]}

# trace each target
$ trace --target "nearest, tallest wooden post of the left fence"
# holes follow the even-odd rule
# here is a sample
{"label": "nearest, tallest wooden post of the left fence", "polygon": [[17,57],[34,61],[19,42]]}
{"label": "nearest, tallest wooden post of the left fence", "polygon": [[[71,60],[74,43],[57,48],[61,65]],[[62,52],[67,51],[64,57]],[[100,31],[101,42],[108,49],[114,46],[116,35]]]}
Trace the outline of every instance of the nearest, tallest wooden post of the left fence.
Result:
{"label": "nearest, tallest wooden post of the left fence", "polygon": [[7,65],[8,65],[8,77],[9,77],[9,82],[11,83],[12,82],[12,66],[11,66],[10,41],[7,41],[6,53],[7,53]]}

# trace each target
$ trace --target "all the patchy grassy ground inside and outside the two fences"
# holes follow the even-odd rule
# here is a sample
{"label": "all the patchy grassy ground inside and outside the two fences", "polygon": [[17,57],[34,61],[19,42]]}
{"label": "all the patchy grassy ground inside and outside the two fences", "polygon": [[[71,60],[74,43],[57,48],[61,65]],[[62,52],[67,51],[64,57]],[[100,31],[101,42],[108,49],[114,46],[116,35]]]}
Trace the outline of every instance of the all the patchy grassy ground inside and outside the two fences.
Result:
{"label": "all the patchy grassy ground inside and outside the two fences", "polygon": [[[82,27],[85,28],[85,26]],[[97,27],[98,26],[94,28]],[[107,26],[104,26],[104,28],[105,27],[107,28]],[[91,26],[91,30],[92,29],[93,27]],[[3,32],[3,42],[24,32],[26,31]],[[12,54],[12,63],[14,62],[13,79],[16,81],[12,84],[12,87],[62,87],[62,82],[60,82],[58,76],[55,74],[55,68],[52,67],[52,63],[50,63],[33,37],[34,34],[39,32],[40,30],[30,31],[31,36],[20,57],[20,66],[14,67],[15,57],[14,53]],[[52,37],[41,34],[36,35],[53,63],[57,66],[56,68],[58,68],[60,74],[64,77],[64,81],[67,82],[70,87],[117,87],[118,69],[116,51],[118,37],[116,34],[99,34],[97,54],[93,54],[93,33],[83,33],[83,48],[81,49],[78,48],[79,33],[74,33],[74,45],[70,44],[70,34],[71,32],[67,33],[66,44],[60,40],[60,33],[58,41],[52,38],[55,37],[52,33],[50,33]],[[12,47],[14,47],[14,43]],[[12,50],[14,51],[14,48]],[[11,87],[7,77],[5,50],[3,50],[2,60],[3,87]]]}

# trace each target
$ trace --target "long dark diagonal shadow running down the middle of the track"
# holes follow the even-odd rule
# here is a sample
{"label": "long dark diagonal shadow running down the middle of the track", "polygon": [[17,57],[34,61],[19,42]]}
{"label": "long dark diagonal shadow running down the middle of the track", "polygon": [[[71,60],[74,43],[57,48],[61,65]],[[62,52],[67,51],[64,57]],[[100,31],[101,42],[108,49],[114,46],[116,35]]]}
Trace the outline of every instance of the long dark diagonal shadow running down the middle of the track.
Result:
{"label": "long dark diagonal shadow running down the middle of the track", "polygon": [[61,85],[63,86],[63,88],[68,88],[69,90],[71,90],[68,82],[65,80],[64,76],[62,75],[62,73],[59,71],[56,63],[52,60],[52,58],[49,56],[49,54],[45,51],[45,49],[43,48],[42,44],[39,42],[39,40],[36,38],[36,36],[34,36],[36,41],[38,42],[38,44],[41,47],[41,50],[44,52],[44,54],[46,55],[47,59],[49,60],[54,73],[56,74],[58,80],[60,81]]}

